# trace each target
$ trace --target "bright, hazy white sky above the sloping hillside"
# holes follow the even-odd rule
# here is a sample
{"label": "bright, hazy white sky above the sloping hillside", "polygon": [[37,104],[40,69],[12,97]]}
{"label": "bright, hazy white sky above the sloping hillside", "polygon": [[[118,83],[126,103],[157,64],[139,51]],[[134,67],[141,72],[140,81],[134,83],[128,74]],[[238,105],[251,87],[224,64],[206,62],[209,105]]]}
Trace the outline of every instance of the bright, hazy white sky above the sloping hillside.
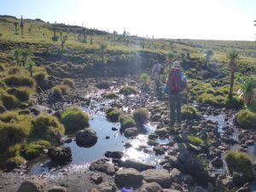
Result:
{"label": "bright, hazy white sky above the sloping hillside", "polygon": [[0,15],[149,38],[254,41],[255,9],[256,0],[0,0]]}

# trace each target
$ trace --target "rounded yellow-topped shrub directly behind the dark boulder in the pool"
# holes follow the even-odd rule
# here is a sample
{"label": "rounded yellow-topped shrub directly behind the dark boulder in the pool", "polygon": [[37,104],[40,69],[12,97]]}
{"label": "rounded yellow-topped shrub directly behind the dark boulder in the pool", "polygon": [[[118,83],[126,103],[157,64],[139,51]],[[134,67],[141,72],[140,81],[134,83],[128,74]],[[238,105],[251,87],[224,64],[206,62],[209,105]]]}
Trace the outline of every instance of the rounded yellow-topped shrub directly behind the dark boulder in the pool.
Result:
{"label": "rounded yellow-topped shrub directly behind the dark boulder in the pool", "polygon": [[89,126],[89,115],[78,107],[67,108],[61,112],[61,123],[66,133],[72,133]]}

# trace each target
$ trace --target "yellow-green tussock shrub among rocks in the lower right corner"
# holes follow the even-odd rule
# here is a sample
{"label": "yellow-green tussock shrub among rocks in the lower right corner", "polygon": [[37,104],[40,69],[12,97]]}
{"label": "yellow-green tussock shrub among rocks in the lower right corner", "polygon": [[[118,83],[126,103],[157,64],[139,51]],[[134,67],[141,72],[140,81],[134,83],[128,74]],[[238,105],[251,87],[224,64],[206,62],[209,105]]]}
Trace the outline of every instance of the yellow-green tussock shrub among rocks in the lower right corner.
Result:
{"label": "yellow-green tussock shrub among rocks in the lower right corner", "polygon": [[230,172],[244,172],[252,170],[252,161],[247,154],[240,151],[228,151],[225,155],[225,160],[230,169]]}

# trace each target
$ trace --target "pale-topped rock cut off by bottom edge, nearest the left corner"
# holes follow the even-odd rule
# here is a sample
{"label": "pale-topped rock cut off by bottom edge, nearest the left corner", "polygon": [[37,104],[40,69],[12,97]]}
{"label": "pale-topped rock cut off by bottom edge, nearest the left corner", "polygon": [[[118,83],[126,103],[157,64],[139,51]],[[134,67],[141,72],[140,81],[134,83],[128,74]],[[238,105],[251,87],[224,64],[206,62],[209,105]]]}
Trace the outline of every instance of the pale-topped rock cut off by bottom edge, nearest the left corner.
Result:
{"label": "pale-topped rock cut off by bottom edge, nearest the left corner", "polygon": [[44,192],[46,183],[42,179],[31,178],[22,182],[17,192]]}

